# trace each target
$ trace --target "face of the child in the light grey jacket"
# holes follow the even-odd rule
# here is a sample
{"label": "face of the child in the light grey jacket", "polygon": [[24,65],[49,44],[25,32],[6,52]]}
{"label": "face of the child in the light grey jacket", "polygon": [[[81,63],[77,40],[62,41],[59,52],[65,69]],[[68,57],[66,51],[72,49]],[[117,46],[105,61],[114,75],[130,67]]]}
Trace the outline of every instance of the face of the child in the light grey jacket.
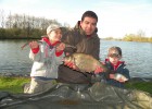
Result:
{"label": "face of the child in the light grey jacket", "polygon": [[54,29],[48,36],[51,41],[59,41],[62,38],[62,31],[60,28]]}

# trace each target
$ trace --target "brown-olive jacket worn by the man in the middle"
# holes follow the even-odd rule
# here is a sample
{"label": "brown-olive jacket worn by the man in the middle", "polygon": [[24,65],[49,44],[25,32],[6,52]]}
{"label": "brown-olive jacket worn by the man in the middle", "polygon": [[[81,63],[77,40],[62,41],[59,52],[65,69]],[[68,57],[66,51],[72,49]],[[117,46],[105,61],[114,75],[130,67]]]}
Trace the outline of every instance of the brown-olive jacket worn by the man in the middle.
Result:
{"label": "brown-olive jacket worn by the man in the middle", "polygon": [[[80,28],[79,22],[73,29],[63,35],[62,41],[77,48],[76,50],[73,48],[66,48],[65,52],[83,52],[91,55],[98,60],[100,59],[100,38],[97,35],[97,31],[92,35],[87,36]],[[60,65],[58,80],[64,83],[90,83],[91,74],[84,74],[81,72],[74,71],[68,66]]]}

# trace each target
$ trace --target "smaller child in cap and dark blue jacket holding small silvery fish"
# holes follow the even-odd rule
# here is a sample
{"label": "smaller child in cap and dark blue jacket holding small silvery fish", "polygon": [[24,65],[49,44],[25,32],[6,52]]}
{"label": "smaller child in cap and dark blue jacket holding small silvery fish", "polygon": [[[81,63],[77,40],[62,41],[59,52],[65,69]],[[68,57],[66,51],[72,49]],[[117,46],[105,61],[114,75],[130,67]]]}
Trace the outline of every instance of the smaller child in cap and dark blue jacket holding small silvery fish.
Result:
{"label": "smaller child in cap and dark blue jacket holding small silvery fish", "polygon": [[129,70],[126,69],[125,61],[122,59],[122,49],[119,47],[111,47],[109,49],[107,59],[105,59],[105,65],[111,70],[111,73],[105,75],[106,83],[117,87],[124,87],[124,83],[127,82],[129,76]]}

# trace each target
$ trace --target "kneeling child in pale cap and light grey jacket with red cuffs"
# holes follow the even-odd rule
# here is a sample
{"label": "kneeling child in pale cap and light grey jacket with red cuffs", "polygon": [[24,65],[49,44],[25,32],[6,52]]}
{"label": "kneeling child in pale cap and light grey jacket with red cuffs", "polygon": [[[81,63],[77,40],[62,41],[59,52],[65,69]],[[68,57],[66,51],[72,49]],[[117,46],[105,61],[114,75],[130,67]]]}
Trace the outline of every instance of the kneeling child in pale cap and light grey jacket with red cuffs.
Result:
{"label": "kneeling child in pale cap and light grey jacket with red cuffs", "polygon": [[51,88],[58,78],[58,68],[62,64],[65,45],[61,43],[62,31],[52,24],[47,28],[47,36],[40,43],[29,44],[29,58],[34,61],[29,87],[24,93],[41,93]]}

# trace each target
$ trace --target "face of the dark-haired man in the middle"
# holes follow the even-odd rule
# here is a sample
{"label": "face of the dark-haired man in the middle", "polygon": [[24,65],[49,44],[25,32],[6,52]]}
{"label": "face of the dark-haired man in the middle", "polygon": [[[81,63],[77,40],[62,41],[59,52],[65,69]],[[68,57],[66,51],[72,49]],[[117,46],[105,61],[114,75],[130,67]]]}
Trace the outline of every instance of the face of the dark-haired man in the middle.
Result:
{"label": "face of the dark-haired man in the middle", "polygon": [[96,31],[97,20],[87,16],[80,22],[80,26],[85,31],[86,35],[91,35]]}

